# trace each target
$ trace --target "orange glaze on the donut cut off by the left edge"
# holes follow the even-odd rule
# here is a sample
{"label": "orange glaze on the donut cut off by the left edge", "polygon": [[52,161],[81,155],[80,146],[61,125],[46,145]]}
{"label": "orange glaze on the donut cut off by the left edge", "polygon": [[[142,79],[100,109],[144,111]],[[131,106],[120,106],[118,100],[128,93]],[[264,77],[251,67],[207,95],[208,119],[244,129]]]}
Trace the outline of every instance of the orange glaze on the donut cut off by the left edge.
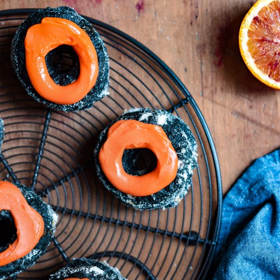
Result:
{"label": "orange glaze on the donut cut off by the left edge", "polygon": [[16,240],[0,253],[0,266],[18,260],[33,250],[44,234],[44,220],[12,183],[0,181],[0,211],[8,210],[17,229]]}

